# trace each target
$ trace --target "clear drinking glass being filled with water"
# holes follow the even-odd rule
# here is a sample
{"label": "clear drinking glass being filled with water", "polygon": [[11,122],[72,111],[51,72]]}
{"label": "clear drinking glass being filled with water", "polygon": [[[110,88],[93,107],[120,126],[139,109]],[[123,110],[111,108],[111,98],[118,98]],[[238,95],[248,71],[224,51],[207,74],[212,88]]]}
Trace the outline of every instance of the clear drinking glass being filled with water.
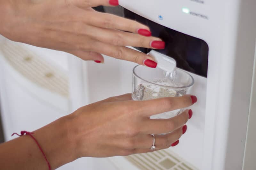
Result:
{"label": "clear drinking glass being filled with water", "polygon": [[[194,85],[194,78],[179,68],[168,73],[159,68],[137,65],[133,68],[132,99],[151,100],[162,97],[180,97],[187,94]],[[157,115],[151,119],[169,119],[183,112],[184,109],[173,110]]]}

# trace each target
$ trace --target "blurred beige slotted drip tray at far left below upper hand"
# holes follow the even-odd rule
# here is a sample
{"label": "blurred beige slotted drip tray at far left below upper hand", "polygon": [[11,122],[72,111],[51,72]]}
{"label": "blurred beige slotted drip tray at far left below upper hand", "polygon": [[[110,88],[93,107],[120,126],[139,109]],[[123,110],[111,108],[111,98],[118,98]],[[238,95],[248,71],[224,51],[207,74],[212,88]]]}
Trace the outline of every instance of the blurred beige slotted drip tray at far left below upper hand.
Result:
{"label": "blurred beige slotted drip tray at far left below upper hand", "polygon": [[18,43],[5,41],[0,49],[10,65],[25,78],[51,92],[68,97],[68,76],[63,71]]}

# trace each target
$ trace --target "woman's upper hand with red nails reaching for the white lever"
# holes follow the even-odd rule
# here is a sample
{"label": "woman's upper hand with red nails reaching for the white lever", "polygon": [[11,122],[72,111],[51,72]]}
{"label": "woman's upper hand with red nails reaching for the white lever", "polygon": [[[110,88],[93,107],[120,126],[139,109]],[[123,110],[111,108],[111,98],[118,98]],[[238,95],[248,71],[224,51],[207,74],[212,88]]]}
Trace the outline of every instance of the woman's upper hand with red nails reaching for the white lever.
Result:
{"label": "woman's upper hand with red nails reaching for the white lever", "polygon": [[[101,54],[156,67],[153,58],[125,46],[164,48],[147,26],[91,7],[116,0],[0,0],[0,33],[38,47],[65,51],[83,60],[104,62]],[[7,3],[9,2],[9,3]],[[1,5],[0,5],[1,6]],[[127,32],[124,32],[127,31]],[[150,60],[147,60],[150,59]]]}

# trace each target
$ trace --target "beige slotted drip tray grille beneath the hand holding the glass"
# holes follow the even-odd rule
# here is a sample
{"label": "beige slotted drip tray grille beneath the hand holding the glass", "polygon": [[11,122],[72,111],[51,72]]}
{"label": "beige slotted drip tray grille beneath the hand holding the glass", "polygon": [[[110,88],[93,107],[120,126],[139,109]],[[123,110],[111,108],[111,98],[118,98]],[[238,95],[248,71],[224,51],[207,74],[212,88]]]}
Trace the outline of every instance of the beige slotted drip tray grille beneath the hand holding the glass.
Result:
{"label": "beige slotted drip tray grille beneath the hand holding the glass", "polygon": [[171,150],[135,154],[126,159],[141,170],[198,170]]}

